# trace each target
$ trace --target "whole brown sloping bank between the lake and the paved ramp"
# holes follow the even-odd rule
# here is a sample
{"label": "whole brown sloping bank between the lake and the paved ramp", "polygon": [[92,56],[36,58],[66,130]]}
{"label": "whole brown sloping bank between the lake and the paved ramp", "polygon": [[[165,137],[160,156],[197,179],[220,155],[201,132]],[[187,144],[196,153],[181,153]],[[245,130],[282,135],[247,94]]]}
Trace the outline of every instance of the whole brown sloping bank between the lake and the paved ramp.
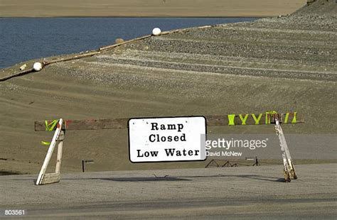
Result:
{"label": "whole brown sloping bank between the lake and the paved ramp", "polygon": [[[263,18],[146,38],[100,55],[48,65],[0,82],[2,170],[38,172],[51,133],[44,119],[130,118],[299,111],[287,134],[336,135],[337,4],[317,1],[291,16]],[[18,66],[1,70],[8,75]],[[210,127],[209,133],[272,133],[272,126]],[[296,147],[294,147],[296,146]],[[333,143],[289,143],[294,158],[336,159]],[[278,161],[279,146],[260,158]],[[324,149],[315,151],[314,149]],[[306,154],[304,154],[304,152]],[[312,153],[310,155],[311,152]],[[305,155],[305,156],[304,156]],[[129,163],[127,130],[68,131],[65,172],[204,167]]]}

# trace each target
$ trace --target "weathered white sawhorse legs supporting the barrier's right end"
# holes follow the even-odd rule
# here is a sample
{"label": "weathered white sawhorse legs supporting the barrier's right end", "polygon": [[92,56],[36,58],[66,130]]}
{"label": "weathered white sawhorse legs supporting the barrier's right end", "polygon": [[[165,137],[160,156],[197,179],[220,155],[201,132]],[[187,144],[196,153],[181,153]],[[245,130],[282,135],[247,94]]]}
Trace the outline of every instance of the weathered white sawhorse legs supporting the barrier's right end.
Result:
{"label": "weathered white sawhorse legs supporting the barrier's right end", "polygon": [[281,146],[283,166],[284,166],[284,180],[290,182],[292,177],[294,180],[297,179],[294,163],[291,160],[290,151],[287,145],[286,138],[284,138],[284,133],[282,131],[281,125],[278,119],[275,119],[275,131],[277,136],[279,136],[279,145]]}

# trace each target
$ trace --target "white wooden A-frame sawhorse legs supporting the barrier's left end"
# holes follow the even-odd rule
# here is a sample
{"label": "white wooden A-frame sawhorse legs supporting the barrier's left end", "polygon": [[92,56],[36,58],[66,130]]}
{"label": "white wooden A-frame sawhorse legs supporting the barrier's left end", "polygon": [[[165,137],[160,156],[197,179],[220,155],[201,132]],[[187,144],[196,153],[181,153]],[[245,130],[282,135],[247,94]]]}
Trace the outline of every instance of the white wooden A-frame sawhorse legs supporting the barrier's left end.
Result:
{"label": "white wooden A-frame sawhorse legs supporting the barrier's left end", "polygon": [[[38,174],[38,179],[36,180],[36,185],[45,185],[53,182],[60,182],[60,166],[62,160],[62,150],[63,150],[63,140],[65,138],[65,133],[62,129],[63,119],[58,121],[53,139],[49,145],[49,149],[46,155],[43,165],[41,167],[40,173]],[[50,161],[51,155],[53,154],[56,143],[58,143],[58,158],[56,161],[56,167],[54,173],[46,173],[48,163]]]}

